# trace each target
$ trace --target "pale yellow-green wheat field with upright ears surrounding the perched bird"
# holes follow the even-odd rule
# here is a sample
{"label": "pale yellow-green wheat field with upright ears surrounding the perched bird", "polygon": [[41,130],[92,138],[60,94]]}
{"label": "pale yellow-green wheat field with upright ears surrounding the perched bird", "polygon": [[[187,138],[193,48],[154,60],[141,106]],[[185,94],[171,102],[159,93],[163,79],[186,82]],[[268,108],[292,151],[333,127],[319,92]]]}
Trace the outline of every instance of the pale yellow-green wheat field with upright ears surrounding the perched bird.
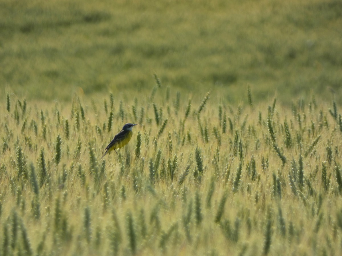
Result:
{"label": "pale yellow-green wheat field with upright ears surrounding the perched bird", "polygon": [[193,102],[157,77],[145,96],[2,100],[2,255],[341,254],[334,101]]}

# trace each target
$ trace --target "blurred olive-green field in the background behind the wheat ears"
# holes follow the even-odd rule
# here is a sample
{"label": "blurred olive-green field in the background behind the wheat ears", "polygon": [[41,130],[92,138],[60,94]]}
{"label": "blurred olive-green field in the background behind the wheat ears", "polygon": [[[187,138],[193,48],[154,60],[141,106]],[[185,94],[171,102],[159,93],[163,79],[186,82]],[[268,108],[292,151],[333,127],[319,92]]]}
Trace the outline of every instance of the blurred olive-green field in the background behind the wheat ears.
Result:
{"label": "blurred olive-green field in the background behind the wheat ears", "polygon": [[341,24],[340,0],[1,0],[1,93],[144,95],[157,74],[221,100],[247,86],[255,100],[330,100],[341,93]]}

